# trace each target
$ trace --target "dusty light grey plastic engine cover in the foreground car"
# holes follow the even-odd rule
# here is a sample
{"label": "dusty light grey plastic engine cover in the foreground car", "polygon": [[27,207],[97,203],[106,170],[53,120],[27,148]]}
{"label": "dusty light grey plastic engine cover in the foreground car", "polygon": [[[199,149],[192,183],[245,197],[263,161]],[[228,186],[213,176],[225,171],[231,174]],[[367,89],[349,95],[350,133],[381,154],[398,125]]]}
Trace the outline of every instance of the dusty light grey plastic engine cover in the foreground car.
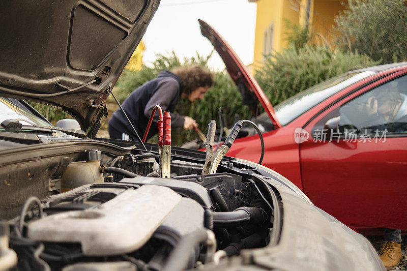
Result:
{"label": "dusty light grey plastic engine cover in the foreground car", "polygon": [[[104,191],[113,191],[106,184]],[[92,195],[85,202],[90,208],[70,210],[31,221],[27,236],[47,242],[80,243],[82,253],[89,256],[118,255],[142,247],[181,202],[181,195],[167,187],[143,185],[137,189],[125,189],[112,199],[93,205],[98,188],[86,188],[76,197],[76,202],[86,194]],[[122,190],[123,190],[122,189]],[[91,191],[90,191],[91,190]],[[102,192],[106,193],[106,192]],[[69,197],[75,196],[68,194]],[[62,196],[62,197],[61,197]],[[63,198],[63,194],[59,195]],[[73,200],[75,201],[75,200]],[[83,201],[83,200],[82,200]],[[72,200],[56,205],[72,206]],[[86,205],[81,202],[82,205]],[[52,205],[52,204],[51,204]],[[50,208],[52,209],[52,208]]]}

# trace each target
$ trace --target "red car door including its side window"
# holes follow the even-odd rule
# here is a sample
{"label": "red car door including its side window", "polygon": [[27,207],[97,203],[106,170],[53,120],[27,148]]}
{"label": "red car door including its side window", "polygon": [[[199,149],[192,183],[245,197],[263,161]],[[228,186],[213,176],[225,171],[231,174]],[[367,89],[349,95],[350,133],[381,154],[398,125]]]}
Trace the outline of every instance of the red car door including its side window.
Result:
{"label": "red car door including its side window", "polygon": [[352,228],[407,230],[406,115],[404,70],[312,119],[304,127],[311,136],[300,144],[305,194]]}

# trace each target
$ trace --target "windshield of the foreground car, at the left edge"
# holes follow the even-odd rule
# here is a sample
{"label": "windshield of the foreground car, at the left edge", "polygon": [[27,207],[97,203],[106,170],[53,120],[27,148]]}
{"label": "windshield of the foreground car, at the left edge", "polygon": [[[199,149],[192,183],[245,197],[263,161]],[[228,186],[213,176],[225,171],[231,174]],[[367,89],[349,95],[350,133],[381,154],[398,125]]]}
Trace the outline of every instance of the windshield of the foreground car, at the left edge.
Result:
{"label": "windshield of the foreground car, at the left edge", "polygon": [[18,119],[22,125],[52,127],[49,123],[34,115],[16,99],[0,97],[0,123],[6,119]]}

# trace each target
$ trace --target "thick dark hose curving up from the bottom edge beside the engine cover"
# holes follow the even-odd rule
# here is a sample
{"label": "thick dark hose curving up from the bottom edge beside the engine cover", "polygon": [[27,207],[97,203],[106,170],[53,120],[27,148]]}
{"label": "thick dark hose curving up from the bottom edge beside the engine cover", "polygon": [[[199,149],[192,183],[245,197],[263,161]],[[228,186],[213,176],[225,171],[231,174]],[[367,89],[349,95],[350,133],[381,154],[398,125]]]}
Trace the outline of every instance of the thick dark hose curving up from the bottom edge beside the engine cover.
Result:
{"label": "thick dark hose curving up from the bottom edge beside the engine cover", "polygon": [[[163,271],[185,270],[194,247],[208,239],[206,230],[196,230],[181,239],[171,251]],[[191,266],[192,267],[192,266]]]}

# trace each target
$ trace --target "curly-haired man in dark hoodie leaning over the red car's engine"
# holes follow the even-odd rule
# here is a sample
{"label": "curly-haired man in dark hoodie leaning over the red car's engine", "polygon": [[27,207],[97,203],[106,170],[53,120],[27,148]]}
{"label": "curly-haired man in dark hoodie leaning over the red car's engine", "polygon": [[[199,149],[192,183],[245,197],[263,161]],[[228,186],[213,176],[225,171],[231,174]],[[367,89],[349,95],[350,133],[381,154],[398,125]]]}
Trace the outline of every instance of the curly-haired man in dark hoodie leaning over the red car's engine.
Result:
{"label": "curly-haired man in dark hoodie leaning over the red car's engine", "polygon": [[[203,98],[213,84],[212,73],[200,65],[184,66],[170,71],[163,71],[158,76],[136,88],[123,102],[122,107],[137,133],[142,136],[147,127],[154,106],[160,105],[163,111],[169,111],[171,126],[191,130],[198,125],[189,116],[174,113],[180,97],[195,102]],[[158,111],[154,122],[158,121]],[[147,139],[157,134],[157,125],[152,125]],[[123,112],[118,109],[109,120],[110,138],[138,140]]]}

